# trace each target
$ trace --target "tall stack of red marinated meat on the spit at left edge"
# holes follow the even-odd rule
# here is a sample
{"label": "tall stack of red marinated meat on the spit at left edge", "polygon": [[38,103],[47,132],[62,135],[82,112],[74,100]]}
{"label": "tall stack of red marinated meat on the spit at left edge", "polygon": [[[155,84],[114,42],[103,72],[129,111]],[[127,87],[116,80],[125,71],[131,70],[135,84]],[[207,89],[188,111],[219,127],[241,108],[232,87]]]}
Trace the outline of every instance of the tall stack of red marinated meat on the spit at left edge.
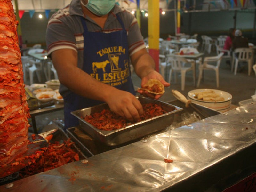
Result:
{"label": "tall stack of red marinated meat on the spit at left edge", "polygon": [[26,101],[17,21],[11,0],[0,0],[0,167],[27,150]]}

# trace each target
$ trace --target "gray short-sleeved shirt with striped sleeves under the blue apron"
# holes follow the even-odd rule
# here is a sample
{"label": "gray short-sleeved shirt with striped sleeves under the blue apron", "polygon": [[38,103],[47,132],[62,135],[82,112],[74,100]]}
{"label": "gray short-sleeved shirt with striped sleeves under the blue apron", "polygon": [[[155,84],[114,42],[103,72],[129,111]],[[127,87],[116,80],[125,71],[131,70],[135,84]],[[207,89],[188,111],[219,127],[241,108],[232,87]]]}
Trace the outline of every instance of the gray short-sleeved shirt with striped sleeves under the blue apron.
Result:
{"label": "gray short-sleeved shirt with striped sleeves under the blue apron", "polygon": [[[84,51],[84,29],[80,17],[84,17],[88,31],[111,33],[114,31],[122,30],[122,26],[116,19],[116,14],[120,16],[124,23],[128,36],[129,54],[145,48],[143,37],[140,33],[140,28],[136,18],[131,12],[124,8],[115,5],[110,11],[105,26],[102,29],[90,17],[84,17],[80,0],[72,0],[71,3],[52,15],[48,22],[46,32],[46,45],[48,55],[50,56],[53,51],[59,49],[73,49],[78,54],[77,66],[83,66],[83,51]],[[65,95],[64,92],[67,88],[61,85],[60,93]]]}

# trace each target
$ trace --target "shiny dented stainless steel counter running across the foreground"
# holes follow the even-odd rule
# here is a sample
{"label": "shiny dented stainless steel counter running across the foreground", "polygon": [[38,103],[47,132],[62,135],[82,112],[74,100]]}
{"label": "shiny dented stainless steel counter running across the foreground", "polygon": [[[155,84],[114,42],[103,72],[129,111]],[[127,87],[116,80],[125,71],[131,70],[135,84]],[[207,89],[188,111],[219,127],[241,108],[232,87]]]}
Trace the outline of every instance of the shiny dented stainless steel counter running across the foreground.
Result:
{"label": "shiny dented stainless steel counter running across the foreground", "polygon": [[92,156],[88,162],[15,181],[12,187],[2,185],[0,191],[222,191],[256,172],[255,129],[252,103]]}

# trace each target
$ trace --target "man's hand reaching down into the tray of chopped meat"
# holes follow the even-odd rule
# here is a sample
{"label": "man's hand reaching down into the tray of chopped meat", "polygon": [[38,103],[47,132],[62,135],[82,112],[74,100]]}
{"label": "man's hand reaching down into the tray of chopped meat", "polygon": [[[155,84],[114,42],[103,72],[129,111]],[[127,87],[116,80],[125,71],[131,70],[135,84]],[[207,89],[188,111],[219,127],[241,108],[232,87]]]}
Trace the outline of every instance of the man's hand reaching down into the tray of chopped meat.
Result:
{"label": "man's hand reaching down into the tray of chopped meat", "polygon": [[138,121],[143,114],[140,101],[129,92],[115,89],[105,101],[111,111],[131,122]]}

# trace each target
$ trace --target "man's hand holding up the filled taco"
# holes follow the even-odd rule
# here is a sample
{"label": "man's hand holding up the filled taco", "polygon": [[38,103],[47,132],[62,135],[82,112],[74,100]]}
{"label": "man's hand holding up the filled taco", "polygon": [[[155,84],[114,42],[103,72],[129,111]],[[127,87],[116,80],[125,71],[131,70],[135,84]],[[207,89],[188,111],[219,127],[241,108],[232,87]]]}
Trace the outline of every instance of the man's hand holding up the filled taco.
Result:
{"label": "man's hand holding up the filled taco", "polygon": [[[167,83],[160,73],[158,73],[157,71],[151,71],[147,76],[142,78],[141,87],[143,87],[148,82],[149,79],[159,80],[164,85],[164,87],[169,87],[170,86],[170,83]],[[154,95],[154,94],[149,93],[145,90],[138,90],[137,92],[140,93],[141,95],[144,95],[146,97],[150,97],[150,98],[153,98],[153,99],[159,99],[162,96],[162,95]]]}

